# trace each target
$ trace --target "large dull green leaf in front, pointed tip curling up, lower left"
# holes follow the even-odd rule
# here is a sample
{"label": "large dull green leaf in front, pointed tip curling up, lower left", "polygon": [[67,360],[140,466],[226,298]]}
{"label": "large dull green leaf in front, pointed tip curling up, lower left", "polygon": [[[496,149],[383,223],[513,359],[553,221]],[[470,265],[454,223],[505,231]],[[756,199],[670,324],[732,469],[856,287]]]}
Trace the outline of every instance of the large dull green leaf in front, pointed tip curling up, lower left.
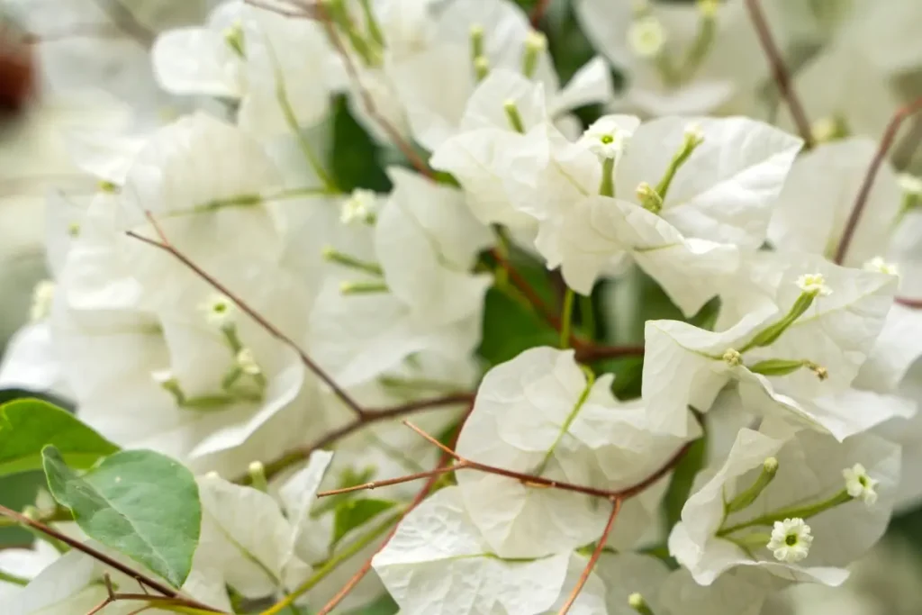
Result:
{"label": "large dull green leaf in front, pointed tip curling up, lower left", "polygon": [[202,508],[188,469],[153,451],[123,451],[78,474],[53,446],[42,451],[54,499],[107,547],[181,587],[192,568]]}

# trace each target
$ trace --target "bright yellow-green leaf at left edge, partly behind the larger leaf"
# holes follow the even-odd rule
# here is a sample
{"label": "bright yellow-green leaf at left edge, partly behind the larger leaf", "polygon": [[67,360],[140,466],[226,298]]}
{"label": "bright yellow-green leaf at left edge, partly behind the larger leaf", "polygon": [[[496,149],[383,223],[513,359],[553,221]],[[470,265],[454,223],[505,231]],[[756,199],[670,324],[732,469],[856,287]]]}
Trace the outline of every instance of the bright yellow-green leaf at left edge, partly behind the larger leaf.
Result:
{"label": "bright yellow-green leaf at left edge, partly behind the larger leaf", "polygon": [[79,468],[119,450],[65,409],[40,399],[0,406],[0,476],[41,469],[41,449],[46,444],[57,448],[68,465]]}

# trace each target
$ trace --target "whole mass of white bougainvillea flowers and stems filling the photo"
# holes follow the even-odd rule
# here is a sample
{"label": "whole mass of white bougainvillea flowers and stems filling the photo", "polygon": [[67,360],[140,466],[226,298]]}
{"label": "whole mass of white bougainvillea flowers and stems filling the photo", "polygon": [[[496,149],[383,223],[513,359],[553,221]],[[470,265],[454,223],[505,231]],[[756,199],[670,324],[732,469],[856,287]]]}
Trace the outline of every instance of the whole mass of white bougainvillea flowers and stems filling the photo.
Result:
{"label": "whole mass of white bougainvillea flowers and stems filling the photo", "polygon": [[[602,55],[565,84],[513,0],[162,28],[153,74],[193,109],[68,132],[93,189],[47,198],[0,383],[194,474],[195,555],[174,582],[161,502],[137,525],[62,495],[46,449],[58,503],[30,518],[85,548],[0,550],[0,612],[771,615],[842,584],[922,494],[922,180],[879,154],[897,93],[835,76],[922,68],[917,36],[873,36],[922,10],[763,3],[776,45],[820,50],[804,134],[747,4],[574,0]],[[337,98],[395,150],[389,189],[331,169]],[[38,429],[3,411],[0,476]]]}

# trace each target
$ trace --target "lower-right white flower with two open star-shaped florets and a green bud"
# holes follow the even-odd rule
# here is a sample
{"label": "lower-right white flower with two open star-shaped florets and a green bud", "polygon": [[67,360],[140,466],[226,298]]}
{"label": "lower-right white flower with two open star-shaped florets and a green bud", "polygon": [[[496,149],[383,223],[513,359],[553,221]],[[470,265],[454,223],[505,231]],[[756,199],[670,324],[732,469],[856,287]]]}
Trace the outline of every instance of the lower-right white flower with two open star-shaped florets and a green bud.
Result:
{"label": "lower-right white flower with two open star-shaped florets and a green bud", "polygon": [[[727,512],[727,503],[751,488],[769,457],[777,460],[774,479],[751,503]],[[856,464],[878,481],[879,499],[872,506],[849,494],[843,469]],[[669,536],[669,551],[702,585],[738,566],[757,566],[790,581],[839,585],[848,575],[845,566],[886,529],[899,472],[899,446],[877,436],[840,443],[766,421],[760,432],[741,430],[722,467],[696,479]],[[806,512],[810,509],[816,512]]]}

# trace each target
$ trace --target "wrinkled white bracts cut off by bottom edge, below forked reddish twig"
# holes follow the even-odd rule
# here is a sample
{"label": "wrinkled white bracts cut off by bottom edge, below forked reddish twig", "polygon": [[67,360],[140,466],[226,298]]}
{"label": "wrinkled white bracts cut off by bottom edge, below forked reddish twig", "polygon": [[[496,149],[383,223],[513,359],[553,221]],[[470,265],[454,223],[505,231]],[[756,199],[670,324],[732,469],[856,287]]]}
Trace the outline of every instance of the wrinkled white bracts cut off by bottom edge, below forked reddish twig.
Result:
{"label": "wrinkled white bracts cut off by bottom edge, below forked reddish twig", "polygon": [[[585,560],[568,552],[503,559],[467,515],[460,490],[449,487],[407,515],[372,566],[408,615],[431,613],[434,603],[445,615],[543,615],[562,606],[570,592],[566,582],[575,582]],[[603,613],[603,592],[592,577],[570,612]]]}

